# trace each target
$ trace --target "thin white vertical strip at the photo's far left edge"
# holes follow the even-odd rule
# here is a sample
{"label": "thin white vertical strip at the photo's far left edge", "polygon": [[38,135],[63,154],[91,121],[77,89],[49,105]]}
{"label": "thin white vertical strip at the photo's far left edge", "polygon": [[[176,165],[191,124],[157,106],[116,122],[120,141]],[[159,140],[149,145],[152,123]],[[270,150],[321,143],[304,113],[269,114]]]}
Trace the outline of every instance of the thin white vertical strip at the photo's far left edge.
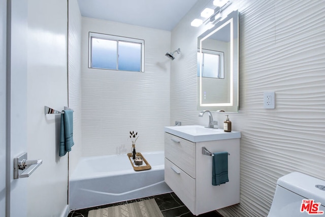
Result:
{"label": "thin white vertical strip at the photo's far left edge", "polygon": [[0,1],[0,216],[6,216],[6,39],[7,2]]}

